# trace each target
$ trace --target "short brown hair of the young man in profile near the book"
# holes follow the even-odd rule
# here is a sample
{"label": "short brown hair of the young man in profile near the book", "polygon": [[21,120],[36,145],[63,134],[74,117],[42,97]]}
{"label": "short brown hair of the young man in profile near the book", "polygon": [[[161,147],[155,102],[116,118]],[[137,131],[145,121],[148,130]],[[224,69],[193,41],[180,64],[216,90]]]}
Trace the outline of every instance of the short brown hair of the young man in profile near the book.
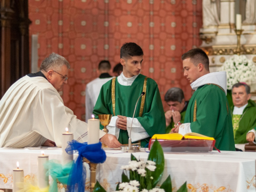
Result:
{"label": "short brown hair of the young man in profile near the book", "polygon": [[209,71],[209,58],[207,54],[199,48],[191,49],[188,52],[184,53],[181,56],[181,59],[187,59],[190,58],[190,61],[197,66],[199,63],[202,63],[204,68]]}

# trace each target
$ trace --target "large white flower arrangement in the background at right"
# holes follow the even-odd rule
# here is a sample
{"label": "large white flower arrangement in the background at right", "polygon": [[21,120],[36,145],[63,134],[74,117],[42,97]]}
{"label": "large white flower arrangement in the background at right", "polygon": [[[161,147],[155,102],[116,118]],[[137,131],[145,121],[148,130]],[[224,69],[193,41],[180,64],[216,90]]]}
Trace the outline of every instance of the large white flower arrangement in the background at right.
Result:
{"label": "large white flower arrangement in the background at right", "polygon": [[227,89],[233,84],[245,82],[249,86],[256,80],[256,66],[245,55],[233,55],[227,59],[220,71],[227,72]]}

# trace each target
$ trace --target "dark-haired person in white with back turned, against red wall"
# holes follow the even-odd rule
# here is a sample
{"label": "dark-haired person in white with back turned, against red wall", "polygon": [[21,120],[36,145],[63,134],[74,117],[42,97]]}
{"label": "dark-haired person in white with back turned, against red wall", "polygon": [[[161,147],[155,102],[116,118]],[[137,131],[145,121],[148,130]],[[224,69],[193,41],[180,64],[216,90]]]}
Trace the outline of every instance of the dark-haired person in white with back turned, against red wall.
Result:
{"label": "dark-haired person in white with back turned, against red wall", "polygon": [[93,108],[98,99],[101,87],[104,83],[113,78],[110,76],[110,70],[110,61],[100,61],[97,70],[99,77],[89,82],[86,86],[86,122],[88,122],[88,119],[92,118]]}

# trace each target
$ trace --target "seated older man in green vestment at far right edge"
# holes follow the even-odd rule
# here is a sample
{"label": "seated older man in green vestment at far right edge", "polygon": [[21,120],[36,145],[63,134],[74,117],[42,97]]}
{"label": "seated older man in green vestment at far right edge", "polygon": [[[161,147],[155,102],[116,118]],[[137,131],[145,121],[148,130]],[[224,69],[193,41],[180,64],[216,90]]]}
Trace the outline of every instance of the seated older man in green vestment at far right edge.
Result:
{"label": "seated older man in green vestment at far right edge", "polygon": [[[232,86],[234,106],[231,106],[231,112],[236,144],[247,143],[246,137],[249,141],[254,141],[250,138],[254,136],[253,128],[256,127],[256,103],[250,100],[250,97],[250,87],[246,83],[239,82]],[[244,151],[244,145],[242,147],[241,150]]]}

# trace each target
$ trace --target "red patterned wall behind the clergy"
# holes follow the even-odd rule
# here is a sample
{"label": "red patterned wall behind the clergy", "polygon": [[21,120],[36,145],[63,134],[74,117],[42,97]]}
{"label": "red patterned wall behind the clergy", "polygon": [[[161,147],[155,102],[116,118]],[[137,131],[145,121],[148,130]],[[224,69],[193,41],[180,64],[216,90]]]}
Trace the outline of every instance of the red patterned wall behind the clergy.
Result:
{"label": "red patterned wall behind the clergy", "polygon": [[30,35],[38,34],[38,65],[52,52],[71,64],[62,98],[79,119],[99,61],[109,59],[114,68],[124,42],[142,47],[141,73],[156,80],[162,100],[172,87],[191,97],[181,55],[201,44],[202,0],[29,0],[29,18]]}

